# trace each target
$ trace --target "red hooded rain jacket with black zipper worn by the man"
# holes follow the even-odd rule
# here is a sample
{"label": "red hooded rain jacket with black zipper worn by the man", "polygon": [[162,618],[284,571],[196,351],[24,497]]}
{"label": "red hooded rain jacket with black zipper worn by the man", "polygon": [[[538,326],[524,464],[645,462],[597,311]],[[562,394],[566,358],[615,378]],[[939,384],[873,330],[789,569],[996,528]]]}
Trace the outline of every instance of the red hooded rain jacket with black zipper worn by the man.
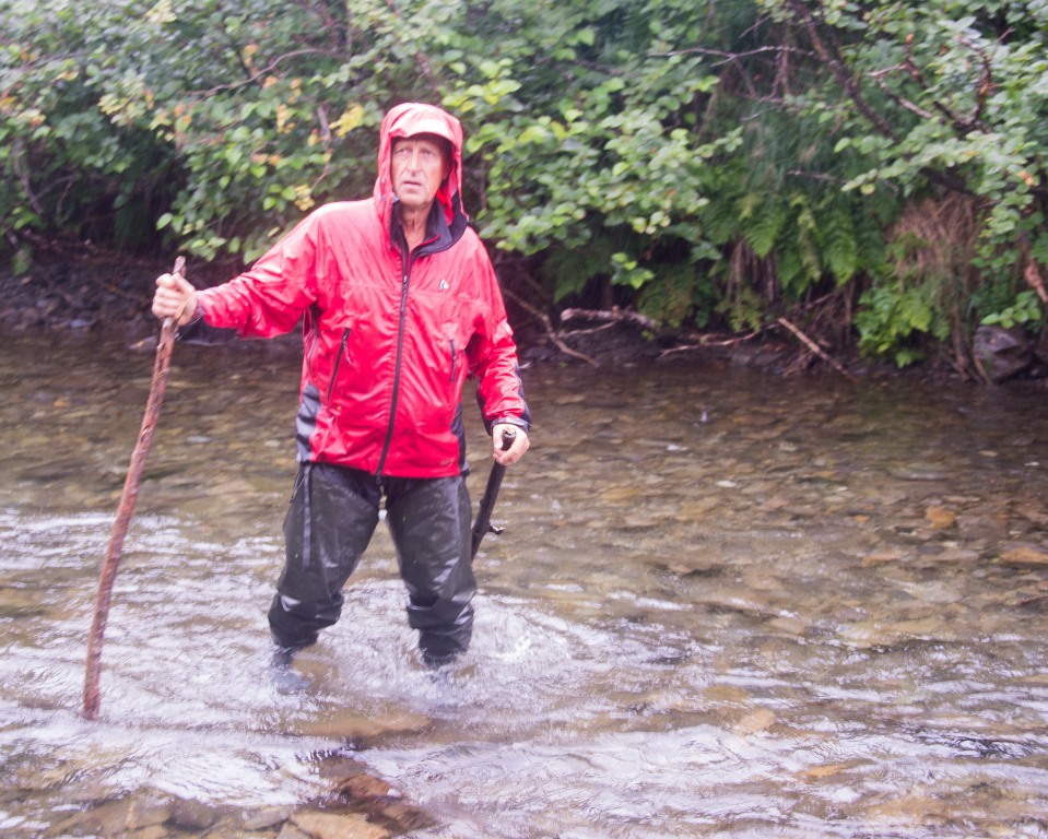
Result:
{"label": "red hooded rain jacket with black zipper worn by the man", "polygon": [[[393,213],[392,140],[451,143],[426,240],[412,253]],[[213,342],[291,331],[303,318],[298,459],[376,475],[464,473],[462,387],[478,377],[485,422],[530,428],[513,331],[487,251],[461,204],[462,129],[429,105],[382,121],[370,199],[310,213],[249,271],[198,293],[203,320],[182,338]]]}

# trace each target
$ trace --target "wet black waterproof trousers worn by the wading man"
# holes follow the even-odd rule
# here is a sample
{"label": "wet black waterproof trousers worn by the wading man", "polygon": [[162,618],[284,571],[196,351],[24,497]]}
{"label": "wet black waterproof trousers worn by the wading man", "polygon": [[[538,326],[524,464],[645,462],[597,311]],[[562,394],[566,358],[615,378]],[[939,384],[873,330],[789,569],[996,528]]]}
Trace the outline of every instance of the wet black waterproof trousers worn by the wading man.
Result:
{"label": "wet black waterproof trousers worn by the wading man", "polygon": [[269,610],[273,640],[296,649],[317,640],[342,613],[342,589],[378,523],[386,495],[408,623],[431,665],[466,651],[476,592],[466,480],[384,477],[327,463],[303,463],[284,520],[286,558]]}

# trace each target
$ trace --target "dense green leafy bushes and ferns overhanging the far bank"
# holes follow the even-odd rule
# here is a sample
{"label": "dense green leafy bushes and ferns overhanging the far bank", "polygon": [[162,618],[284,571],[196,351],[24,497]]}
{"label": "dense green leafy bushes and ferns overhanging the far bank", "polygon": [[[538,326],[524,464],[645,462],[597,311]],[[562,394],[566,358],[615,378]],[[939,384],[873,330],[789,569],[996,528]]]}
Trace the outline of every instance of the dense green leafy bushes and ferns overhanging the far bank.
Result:
{"label": "dense green leafy bushes and ferns overhanging the far bank", "polygon": [[[404,99],[533,311],[970,370],[1044,329],[1048,3],[0,0],[0,232],[251,259],[369,193]],[[160,238],[158,238],[160,237]]]}

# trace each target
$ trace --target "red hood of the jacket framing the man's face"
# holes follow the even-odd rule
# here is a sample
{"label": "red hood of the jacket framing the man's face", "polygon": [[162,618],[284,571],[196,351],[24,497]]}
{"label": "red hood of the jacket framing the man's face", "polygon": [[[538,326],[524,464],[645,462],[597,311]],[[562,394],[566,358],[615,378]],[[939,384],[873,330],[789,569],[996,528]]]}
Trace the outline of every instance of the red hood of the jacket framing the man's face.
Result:
{"label": "red hood of the jacket framing the man's face", "polygon": [[373,194],[385,227],[389,229],[389,218],[396,200],[390,173],[393,140],[415,134],[436,134],[451,144],[451,170],[440,185],[436,200],[444,209],[448,225],[459,227],[469,221],[462,208],[462,123],[435,105],[416,102],[408,102],[390,109],[379,130],[378,178]]}

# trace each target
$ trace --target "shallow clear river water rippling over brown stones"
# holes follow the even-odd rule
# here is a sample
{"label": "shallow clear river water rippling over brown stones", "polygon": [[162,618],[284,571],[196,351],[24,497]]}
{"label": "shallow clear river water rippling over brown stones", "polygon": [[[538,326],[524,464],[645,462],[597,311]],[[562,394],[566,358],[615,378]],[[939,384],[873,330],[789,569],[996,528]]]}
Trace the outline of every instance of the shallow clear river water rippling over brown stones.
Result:
{"label": "shallow clear river water rippling over brown stones", "polygon": [[152,361],[0,343],[3,836],[307,836],[357,773],[420,839],[1048,836],[1043,383],[528,369],[464,661],[419,665],[380,528],[287,690],[297,351],[179,345],[89,722]]}

